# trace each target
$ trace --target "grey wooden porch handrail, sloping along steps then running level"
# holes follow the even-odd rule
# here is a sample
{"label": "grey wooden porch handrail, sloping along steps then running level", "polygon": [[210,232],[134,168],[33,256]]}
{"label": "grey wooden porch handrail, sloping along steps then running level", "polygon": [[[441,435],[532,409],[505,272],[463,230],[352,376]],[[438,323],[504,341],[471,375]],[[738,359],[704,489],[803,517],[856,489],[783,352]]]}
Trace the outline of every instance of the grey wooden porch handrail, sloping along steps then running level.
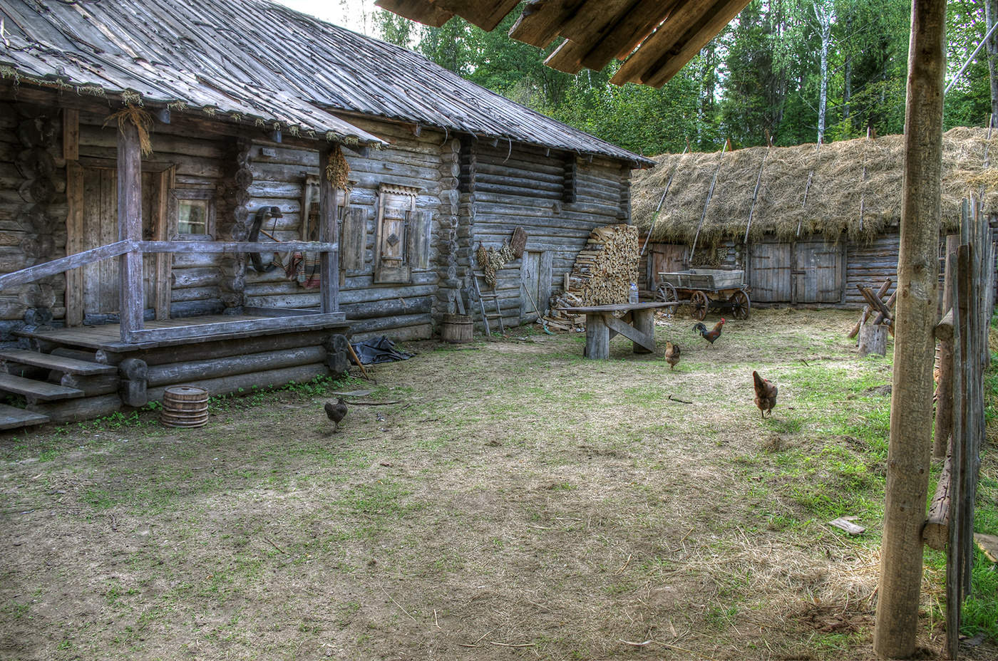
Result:
{"label": "grey wooden porch handrail, sloping along steps then running level", "polygon": [[44,264],[22,268],[0,275],[0,291],[8,287],[34,282],[50,275],[92,264],[102,259],[118,257],[128,252],[336,252],[339,244],[320,241],[117,241],[76,254],[59,257]]}

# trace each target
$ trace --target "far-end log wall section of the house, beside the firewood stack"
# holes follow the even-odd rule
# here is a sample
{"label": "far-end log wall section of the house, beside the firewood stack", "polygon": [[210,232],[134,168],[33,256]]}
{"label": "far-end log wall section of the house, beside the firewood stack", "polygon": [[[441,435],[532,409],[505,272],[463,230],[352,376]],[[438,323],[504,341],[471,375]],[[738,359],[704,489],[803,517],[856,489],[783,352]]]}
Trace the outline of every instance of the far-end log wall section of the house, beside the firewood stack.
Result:
{"label": "far-end log wall section of the house, beside the firewood stack", "polygon": [[[500,144],[477,146],[477,168],[472,223],[475,246],[499,248],[517,226],[527,232],[530,252],[550,251],[552,273],[549,288],[562,288],[565,273],[572,270],[579,250],[594,227],[627,222],[627,191],[630,169],[610,161],[579,161],[575,201],[562,201],[566,155],[527,146]],[[568,157],[575,159],[574,155]],[[496,291],[503,322],[515,326],[532,319],[521,318],[520,287],[522,259],[516,259],[497,274]],[[476,269],[479,266],[476,263]],[[548,301],[537,301],[541,308]],[[528,303],[529,305],[529,303]],[[488,312],[494,310],[487,304]],[[532,306],[531,306],[532,307]]]}

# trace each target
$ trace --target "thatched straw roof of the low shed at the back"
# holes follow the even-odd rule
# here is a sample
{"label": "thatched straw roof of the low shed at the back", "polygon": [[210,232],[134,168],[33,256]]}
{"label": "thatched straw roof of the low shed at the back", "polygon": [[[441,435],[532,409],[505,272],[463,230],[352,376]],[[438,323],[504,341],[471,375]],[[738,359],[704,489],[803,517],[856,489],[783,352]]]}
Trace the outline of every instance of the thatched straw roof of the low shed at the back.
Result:
{"label": "thatched straw roof of the low shed at the back", "polygon": [[[664,155],[655,159],[656,167],[635,172],[633,222],[642,233],[648,232],[672,177],[652,240],[692,243],[717,171],[699,245],[729,237],[742,240],[756,180],[760,182],[749,241],[765,233],[791,238],[797,235],[798,225],[801,236],[823,234],[837,240],[844,234],[868,240],[901,219],[903,152],[902,136],[887,136],[822,145],[820,151],[815,145],[800,145],[774,147],[768,155],[764,147],[728,152],[723,157],[720,152]],[[998,162],[998,132],[992,135],[990,146],[986,129],[957,128],[943,135],[945,227],[959,226],[961,200],[981,187],[985,209],[998,211],[998,167],[985,168],[986,154],[992,164]]]}

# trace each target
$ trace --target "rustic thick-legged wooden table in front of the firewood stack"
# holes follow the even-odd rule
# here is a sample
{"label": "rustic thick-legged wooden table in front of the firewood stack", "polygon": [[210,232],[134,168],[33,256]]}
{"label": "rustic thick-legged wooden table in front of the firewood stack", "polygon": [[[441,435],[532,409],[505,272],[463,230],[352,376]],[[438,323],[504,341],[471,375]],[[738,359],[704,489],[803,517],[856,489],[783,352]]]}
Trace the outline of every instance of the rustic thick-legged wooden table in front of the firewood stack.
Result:
{"label": "rustic thick-legged wooden table in front of the firewood stack", "polygon": [[[678,302],[616,303],[564,308],[569,314],[586,315],[586,358],[610,358],[610,338],[620,334],[634,342],[636,354],[655,352],[655,311]],[[615,312],[624,312],[616,317]]]}

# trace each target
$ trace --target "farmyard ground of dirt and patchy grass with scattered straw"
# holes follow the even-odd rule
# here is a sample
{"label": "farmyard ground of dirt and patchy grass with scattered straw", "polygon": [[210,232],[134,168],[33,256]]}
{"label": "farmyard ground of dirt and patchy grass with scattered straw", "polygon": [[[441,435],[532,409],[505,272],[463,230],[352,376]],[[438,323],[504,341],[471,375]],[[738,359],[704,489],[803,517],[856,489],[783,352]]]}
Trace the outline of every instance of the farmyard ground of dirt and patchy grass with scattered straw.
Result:
{"label": "farmyard ground of dirt and patchy grass with scattered straw", "polygon": [[[663,321],[675,371],[520,329],[200,430],[0,437],[0,658],[869,658],[890,360],[854,320],[754,312],[715,348]],[[360,389],[330,434],[326,390]]]}

